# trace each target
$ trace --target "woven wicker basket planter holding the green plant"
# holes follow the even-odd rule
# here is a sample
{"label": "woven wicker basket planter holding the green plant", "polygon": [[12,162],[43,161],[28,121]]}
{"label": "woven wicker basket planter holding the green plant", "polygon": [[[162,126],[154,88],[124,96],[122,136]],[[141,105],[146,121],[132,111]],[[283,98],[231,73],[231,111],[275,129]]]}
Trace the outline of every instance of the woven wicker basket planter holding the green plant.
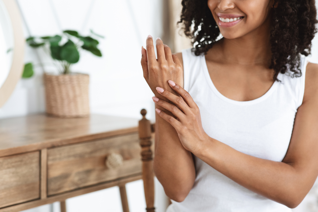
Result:
{"label": "woven wicker basket planter holding the green plant", "polygon": [[88,74],[44,74],[46,113],[63,118],[89,115]]}

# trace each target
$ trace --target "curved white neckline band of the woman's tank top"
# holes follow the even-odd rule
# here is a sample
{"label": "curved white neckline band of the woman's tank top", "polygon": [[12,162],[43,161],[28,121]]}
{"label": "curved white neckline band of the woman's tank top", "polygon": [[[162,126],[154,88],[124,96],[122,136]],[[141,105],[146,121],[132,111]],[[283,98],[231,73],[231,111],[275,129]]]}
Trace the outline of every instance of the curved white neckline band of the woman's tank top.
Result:
{"label": "curved white neckline band of the woman's tank top", "polygon": [[237,100],[229,99],[229,98],[225,97],[223,94],[221,94],[218,91],[218,89],[215,87],[215,85],[213,84],[211,76],[210,76],[209,71],[208,71],[208,66],[206,65],[205,55],[202,55],[202,61],[201,62],[202,62],[202,66],[203,66],[203,72],[204,72],[204,75],[205,75],[205,79],[206,79],[207,83],[209,84],[211,90],[220,99],[224,100],[225,102],[231,103],[231,104],[235,104],[235,105],[252,105],[252,104],[259,103],[259,102],[267,99],[274,92],[274,90],[277,87],[278,81],[275,80],[273,85],[269,88],[269,90],[264,95],[262,95],[261,97],[259,97],[257,99],[253,99],[253,100],[249,100],[249,101],[237,101]]}

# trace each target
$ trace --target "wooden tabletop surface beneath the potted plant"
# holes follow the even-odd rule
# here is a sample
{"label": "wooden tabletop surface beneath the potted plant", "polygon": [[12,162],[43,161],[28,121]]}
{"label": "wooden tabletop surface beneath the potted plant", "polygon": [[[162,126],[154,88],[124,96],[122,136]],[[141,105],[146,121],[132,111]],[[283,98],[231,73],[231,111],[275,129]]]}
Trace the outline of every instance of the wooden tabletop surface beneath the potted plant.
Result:
{"label": "wooden tabletop surface beneath the potted plant", "polygon": [[138,119],[91,114],[55,118],[44,114],[0,119],[0,157],[138,131]]}

